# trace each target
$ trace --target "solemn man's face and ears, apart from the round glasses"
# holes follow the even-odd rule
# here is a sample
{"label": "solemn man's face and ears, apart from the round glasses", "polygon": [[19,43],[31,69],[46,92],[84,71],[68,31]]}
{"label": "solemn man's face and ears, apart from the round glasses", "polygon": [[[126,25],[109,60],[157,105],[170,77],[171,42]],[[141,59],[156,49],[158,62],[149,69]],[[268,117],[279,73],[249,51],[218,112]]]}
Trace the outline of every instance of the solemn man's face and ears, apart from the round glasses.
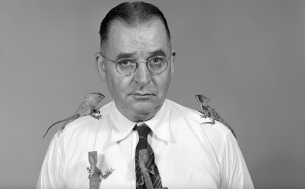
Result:
{"label": "solemn man's face and ears, apart from the round glasses", "polygon": [[139,63],[135,73],[123,76],[116,71],[115,64],[104,59],[98,52],[96,61],[101,79],[107,83],[109,92],[119,112],[138,122],[153,117],[161,108],[169,88],[174,65],[174,50],[171,50],[164,25],[160,20],[138,28],[128,28],[115,21],[111,24],[104,57],[117,61],[132,58],[146,61],[151,57],[168,58],[167,69],[161,74],[151,75],[145,63]]}

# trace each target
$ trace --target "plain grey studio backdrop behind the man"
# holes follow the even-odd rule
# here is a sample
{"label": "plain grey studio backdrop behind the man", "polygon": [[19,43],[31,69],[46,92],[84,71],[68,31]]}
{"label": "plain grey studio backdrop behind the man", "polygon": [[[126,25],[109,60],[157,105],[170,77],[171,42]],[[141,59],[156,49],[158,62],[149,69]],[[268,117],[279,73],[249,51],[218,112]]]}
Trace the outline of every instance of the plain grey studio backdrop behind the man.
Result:
{"label": "plain grey studio backdrop behind the man", "polygon": [[[101,92],[99,25],[122,1],[0,1],[0,188],[34,188],[48,144]],[[305,1],[146,1],[168,20],[168,98],[233,127],[256,188],[305,188]],[[200,157],[198,157],[200,158]],[[181,173],[183,174],[183,173]]]}

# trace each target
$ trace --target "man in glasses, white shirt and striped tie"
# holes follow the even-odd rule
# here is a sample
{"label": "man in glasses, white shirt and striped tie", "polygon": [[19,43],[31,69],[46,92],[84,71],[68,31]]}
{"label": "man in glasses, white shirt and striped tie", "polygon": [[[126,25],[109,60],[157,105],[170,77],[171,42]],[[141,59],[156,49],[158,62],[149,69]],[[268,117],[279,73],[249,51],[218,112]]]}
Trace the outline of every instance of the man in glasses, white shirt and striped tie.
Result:
{"label": "man in glasses, white shirt and striped tie", "polygon": [[232,132],[166,99],[175,50],[158,8],[120,4],[100,36],[97,70],[113,101],[101,107],[103,119],[81,117],[55,134],[37,188],[88,188],[89,151],[103,174],[114,169],[100,188],[254,188]]}

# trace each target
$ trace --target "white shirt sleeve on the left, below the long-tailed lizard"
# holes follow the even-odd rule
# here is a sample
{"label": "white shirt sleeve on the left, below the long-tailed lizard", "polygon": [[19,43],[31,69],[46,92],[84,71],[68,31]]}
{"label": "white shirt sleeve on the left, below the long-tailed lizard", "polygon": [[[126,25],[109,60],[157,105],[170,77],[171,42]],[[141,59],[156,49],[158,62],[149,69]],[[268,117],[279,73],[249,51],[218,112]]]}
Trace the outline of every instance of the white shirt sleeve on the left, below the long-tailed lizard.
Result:
{"label": "white shirt sleeve on the left, below the long-tailed lizard", "polygon": [[63,184],[64,160],[58,138],[53,138],[46,152],[38,182],[37,189],[65,188]]}

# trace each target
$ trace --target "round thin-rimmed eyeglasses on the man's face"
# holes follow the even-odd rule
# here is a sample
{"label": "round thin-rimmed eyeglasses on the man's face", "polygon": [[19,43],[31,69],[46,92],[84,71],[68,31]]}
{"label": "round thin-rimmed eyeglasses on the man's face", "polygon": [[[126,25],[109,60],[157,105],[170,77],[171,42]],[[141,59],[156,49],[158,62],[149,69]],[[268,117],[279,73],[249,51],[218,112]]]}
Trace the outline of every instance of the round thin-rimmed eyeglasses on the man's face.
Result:
{"label": "round thin-rimmed eyeglasses on the man's face", "polygon": [[[102,54],[101,54],[102,55]],[[104,57],[102,55],[102,57]],[[139,67],[139,63],[145,63],[149,72],[153,75],[160,74],[164,72],[168,65],[168,59],[171,55],[166,58],[162,56],[151,57],[147,61],[135,61],[132,58],[124,58],[119,59],[118,61],[112,61],[104,57],[106,60],[115,63],[116,71],[124,76],[132,75],[136,72],[137,68]]]}

